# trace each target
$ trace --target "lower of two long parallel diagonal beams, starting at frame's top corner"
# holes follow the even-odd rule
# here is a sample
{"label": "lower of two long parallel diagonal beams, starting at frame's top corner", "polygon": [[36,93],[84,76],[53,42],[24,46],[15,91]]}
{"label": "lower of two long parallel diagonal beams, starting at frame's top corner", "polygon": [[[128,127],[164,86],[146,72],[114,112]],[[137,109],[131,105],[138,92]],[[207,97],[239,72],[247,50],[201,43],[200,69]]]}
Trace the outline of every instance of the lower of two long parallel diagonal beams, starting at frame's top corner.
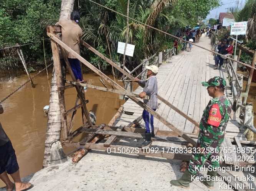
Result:
{"label": "lower of two long parallel diagonal beams, starting at frame's top corner", "polygon": [[[105,79],[108,83],[110,83],[112,86],[114,86],[116,89],[119,90],[123,90],[125,91],[125,89],[123,87],[121,87],[119,84],[117,84],[116,82],[114,82],[112,79],[110,79],[108,76],[106,76],[104,73],[102,73],[101,71],[99,71],[97,68],[95,68],[91,63],[89,63],[87,60],[85,60],[83,57],[81,57],[78,53],[76,53],[74,50],[72,50],[70,47],[68,47],[68,45],[64,44],[61,40],[59,40],[58,38],[56,38],[54,35],[52,35],[51,33],[47,33],[47,35],[53,39],[56,43],[58,43],[61,47],[63,47],[65,50],[67,50],[68,52],[72,53],[76,58],[78,58],[78,60],[80,60],[84,65],[88,66],[88,68],[90,68],[92,71],[94,71],[96,74],[98,74],[99,76],[101,76],[103,79]],[[129,74],[130,75],[130,74]],[[176,131],[179,136],[181,136],[182,138],[184,138],[185,140],[187,140],[188,142],[190,142],[193,146],[196,146],[196,142],[191,139],[189,136],[187,136],[185,133],[183,133],[182,131],[180,131],[179,129],[177,129],[176,127],[174,127],[170,122],[168,122],[167,120],[165,120],[162,116],[160,116],[157,112],[155,112],[154,110],[152,110],[149,106],[145,105],[143,102],[141,102],[139,99],[137,98],[133,98],[130,97],[130,99],[132,99],[135,103],[137,103],[138,105],[140,105],[140,107],[144,108],[145,110],[147,110],[150,114],[152,114],[155,118],[157,118],[158,120],[160,120],[162,123],[164,123],[168,128],[172,129],[173,131]]]}

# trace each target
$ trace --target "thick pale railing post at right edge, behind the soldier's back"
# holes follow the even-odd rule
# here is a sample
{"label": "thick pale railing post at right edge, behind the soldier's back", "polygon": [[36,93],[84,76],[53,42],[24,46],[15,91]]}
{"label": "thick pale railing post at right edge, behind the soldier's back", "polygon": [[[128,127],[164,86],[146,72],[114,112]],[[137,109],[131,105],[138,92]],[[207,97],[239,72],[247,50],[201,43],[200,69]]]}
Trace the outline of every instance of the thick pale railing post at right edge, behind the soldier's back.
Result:
{"label": "thick pale railing post at right edge, behind the soldier's back", "polygon": [[[253,125],[253,104],[247,103],[245,105],[245,112],[244,112],[244,125],[247,124],[249,126]],[[249,129],[246,129],[246,138],[248,141],[253,141],[253,132]]]}

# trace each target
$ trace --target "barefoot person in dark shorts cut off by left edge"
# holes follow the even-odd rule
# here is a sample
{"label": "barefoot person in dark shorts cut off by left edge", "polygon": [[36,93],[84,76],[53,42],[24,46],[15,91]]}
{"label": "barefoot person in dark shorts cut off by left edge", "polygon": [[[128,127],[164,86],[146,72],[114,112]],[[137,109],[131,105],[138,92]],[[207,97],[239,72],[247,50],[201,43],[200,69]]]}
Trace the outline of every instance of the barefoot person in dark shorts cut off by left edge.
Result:
{"label": "barefoot person in dark shorts cut off by left edge", "polygon": [[[3,107],[0,105],[0,114],[3,113]],[[12,176],[14,183],[10,181],[8,175]],[[28,190],[33,187],[31,183],[23,183],[20,179],[19,165],[12,142],[3,130],[0,123],[0,179],[5,183],[6,190],[12,191],[15,187],[16,191]]]}

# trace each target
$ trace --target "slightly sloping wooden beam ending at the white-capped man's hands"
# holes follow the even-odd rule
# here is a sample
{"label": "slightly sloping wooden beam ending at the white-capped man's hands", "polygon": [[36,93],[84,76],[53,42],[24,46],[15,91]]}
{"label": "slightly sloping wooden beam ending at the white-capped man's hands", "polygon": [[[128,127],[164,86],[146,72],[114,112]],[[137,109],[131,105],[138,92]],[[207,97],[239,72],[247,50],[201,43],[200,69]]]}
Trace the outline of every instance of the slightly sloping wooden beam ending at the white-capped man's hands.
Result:
{"label": "slightly sloping wooden beam ending at the white-capped man's hands", "polygon": [[[79,82],[71,82],[69,80],[66,80],[66,83],[77,85],[77,86],[89,87],[89,88],[97,89],[97,90],[100,90],[100,91],[112,92],[112,93],[115,93],[115,94],[127,95],[127,96],[132,96],[132,97],[140,98],[139,94],[137,94],[135,92],[127,92],[127,91],[121,91],[121,90],[117,90],[117,89],[111,89],[111,88],[106,88],[106,87],[94,86],[94,85],[91,85],[91,84],[85,84],[85,83],[79,83]],[[146,95],[144,99],[149,99],[149,96]]]}

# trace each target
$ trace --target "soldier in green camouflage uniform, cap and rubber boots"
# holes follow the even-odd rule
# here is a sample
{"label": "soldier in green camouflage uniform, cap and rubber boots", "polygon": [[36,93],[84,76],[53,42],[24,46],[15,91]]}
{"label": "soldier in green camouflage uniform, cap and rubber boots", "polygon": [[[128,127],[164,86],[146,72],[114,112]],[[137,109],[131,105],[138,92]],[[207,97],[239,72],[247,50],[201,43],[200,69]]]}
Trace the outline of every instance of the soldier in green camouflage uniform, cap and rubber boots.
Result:
{"label": "soldier in green camouflage uniform, cap and rubber boots", "polygon": [[[224,140],[225,129],[231,113],[231,102],[224,95],[226,81],[221,77],[213,77],[208,82],[202,82],[207,87],[208,94],[213,97],[210,100],[200,121],[200,132],[197,140],[197,153],[190,158],[188,169],[179,180],[172,180],[174,186],[189,188],[192,176],[196,175],[196,169],[202,167],[207,161],[212,167],[220,164],[215,157],[219,155],[220,145]],[[216,171],[209,171],[207,175],[216,176]],[[213,181],[204,180],[203,183],[213,189]]]}

